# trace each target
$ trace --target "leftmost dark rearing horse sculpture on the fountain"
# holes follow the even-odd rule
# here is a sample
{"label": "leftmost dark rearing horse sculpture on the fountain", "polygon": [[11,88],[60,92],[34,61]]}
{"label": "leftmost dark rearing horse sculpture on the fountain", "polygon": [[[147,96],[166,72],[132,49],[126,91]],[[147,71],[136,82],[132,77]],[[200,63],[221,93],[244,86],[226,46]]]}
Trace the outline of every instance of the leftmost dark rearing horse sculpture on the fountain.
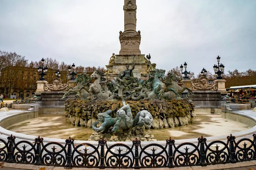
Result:
{"label": "leftmost dark rearing horse sculpture on the fountain", "polygon": [[89,78],[89,75],[87,75],[86,73],[78,74],[75,80],[77,85],[75,87],[68,88],[67,92],[63,95],[61,99],[65,99],[70,93],[76,94],[76,98],[86,99],[89,96],[89,93],[86,91],[86,88],[88,88],[86,87],[87,80]]}

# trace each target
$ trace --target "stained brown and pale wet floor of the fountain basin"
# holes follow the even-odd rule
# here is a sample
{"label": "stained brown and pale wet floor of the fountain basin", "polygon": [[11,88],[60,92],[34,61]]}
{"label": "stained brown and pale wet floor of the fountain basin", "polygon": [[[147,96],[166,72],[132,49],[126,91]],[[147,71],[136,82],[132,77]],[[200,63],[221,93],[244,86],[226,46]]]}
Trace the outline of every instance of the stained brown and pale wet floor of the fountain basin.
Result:
{"label": "stained brown and pale wet floor of the fountain basin", "polygon": [[[203,135],[220,136],[246,130],[250,127],[239,122],[222,119],[221,114],[197,113],[186,126],[174,128],[151,129],[157,140],[198,138]],[[39,114],[38,118],[16,123],[7,128],[17,133],[49,138],[87,140],[94,132],[88,127],[75,127],[67,122],[62,114]]]}

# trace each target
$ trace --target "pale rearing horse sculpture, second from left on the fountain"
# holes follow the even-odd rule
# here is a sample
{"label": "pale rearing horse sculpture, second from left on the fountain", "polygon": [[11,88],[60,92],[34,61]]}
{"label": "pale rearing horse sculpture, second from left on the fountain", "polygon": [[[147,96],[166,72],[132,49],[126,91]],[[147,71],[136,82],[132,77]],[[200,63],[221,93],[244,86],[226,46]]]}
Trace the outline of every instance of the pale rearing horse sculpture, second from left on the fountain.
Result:
{"label": "pale rearing horse sculpture, second from left on the fountain", "polygon": [[[91,74],[91,78],[95,79],[93,84],[89,87],[89,99],[108,99],[112,95],[111,91],[108,90],[106,83],[108,79],[106,79],[105,74],[102,71],[96,70]],[[103,91],[103,87],[105,90]]]}

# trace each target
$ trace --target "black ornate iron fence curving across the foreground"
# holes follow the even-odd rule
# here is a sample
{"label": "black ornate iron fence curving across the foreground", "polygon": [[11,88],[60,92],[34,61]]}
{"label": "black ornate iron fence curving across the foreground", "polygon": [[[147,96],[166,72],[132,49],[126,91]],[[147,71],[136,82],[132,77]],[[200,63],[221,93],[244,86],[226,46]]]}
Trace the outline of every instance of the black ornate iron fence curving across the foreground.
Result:
{"label": "black ornate iron fence curving across the foreground", "polygon": [[227,142],[213,141],[201,136],[198,143],[185,142],[175,145],[175,140],[166,140],[166,145],[151,143],[141,145],[140,140],[132,141],[132,146],[116,143],[108,146],[107,141],[99,140],[97,147],[93,144],[74,144],[69,138],[65,145],[58,142],[44,144],[38,136],[35,143],[29,141],[15,142],[15,136],[9,136],[8,142],[0,139],[0,161],[52,165],[63,167],[180,167],[207,166],[209,164],[236,163],[256,159],[256,134],[251,139],[227,136]]}

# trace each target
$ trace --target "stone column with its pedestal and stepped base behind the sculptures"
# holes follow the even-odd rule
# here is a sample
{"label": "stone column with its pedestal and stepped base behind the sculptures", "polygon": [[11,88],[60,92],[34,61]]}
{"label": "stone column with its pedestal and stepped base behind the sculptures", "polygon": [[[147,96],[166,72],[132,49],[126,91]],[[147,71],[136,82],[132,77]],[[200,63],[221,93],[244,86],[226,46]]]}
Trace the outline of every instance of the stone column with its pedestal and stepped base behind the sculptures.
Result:
{"label": "stone column with its pedestal and stepped base behind the sculptures", "polygon": [[[108,80],[118,77],[122,71],[126,70],[125,66],[128,65],[133,70],[134,77],[141,79],[148,79],[148,70],[150,70],[151,62],[145,58],[145,54],[140,52],[140,31],[136,31],[136,0],[125,0],[124,9],[124,32],[119,32],[119,41],[121,50],[119,55],[112,54],[106,68]],[[154,66],[155,67],[155,66]]]}

